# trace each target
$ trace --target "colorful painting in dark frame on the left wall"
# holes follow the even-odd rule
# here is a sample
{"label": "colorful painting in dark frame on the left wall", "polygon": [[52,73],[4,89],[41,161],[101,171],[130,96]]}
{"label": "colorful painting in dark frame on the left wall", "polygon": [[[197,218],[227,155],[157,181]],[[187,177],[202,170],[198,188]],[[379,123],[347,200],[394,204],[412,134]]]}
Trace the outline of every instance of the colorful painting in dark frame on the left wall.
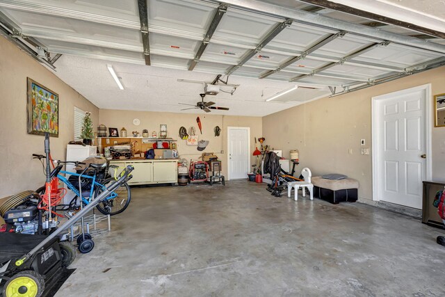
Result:
{"label": "colorful painting in dark frame on the left wall", "polygon": [[58,95],[28,77],[28,134],[58,137]]}

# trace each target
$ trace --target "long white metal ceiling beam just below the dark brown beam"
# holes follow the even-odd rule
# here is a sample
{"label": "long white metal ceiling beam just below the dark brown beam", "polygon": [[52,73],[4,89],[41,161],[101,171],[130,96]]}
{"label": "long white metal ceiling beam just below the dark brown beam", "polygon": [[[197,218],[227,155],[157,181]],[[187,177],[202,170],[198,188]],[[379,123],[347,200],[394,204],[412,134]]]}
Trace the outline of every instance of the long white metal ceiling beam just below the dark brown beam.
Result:
{"label": "long white metal ceiling beam just below the dark brown beam", "polygon": [[378,28],[371,28],[369,26],[344,22],[338,19],[325,17],[323,15],[317,15],[316,13],[308,13],[303,10],[282,7],[276,4],[257,0],[223,0],[222,2],[227,3],[230,6],[238,6],[245,9],[256,10],[261,13],[286,17],[293,19],[294,22],[301,22],[311,26],[336,29],[338,31],[348,31],[348,33],[353,33],[355,35],[377,38],[380,40],[388,40],[400,45],[406,45],[408,47],[417,47],[419,49],[426,49],[428,51],[436,51],[438,53],[445,54],[445,45],[439,45],[433,42],[427,42],[426,40],[420,40],[418,38],[411,38],[396,33],[382,31]]}

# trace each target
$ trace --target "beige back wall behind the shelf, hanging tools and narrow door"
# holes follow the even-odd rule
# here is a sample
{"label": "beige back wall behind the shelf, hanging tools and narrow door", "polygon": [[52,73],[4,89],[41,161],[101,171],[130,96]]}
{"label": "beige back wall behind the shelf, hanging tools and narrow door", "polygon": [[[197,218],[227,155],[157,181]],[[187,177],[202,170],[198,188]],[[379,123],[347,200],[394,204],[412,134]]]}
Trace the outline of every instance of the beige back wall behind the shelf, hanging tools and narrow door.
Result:
{"label": "beige back wall behind the shelf, hanging tools and narrow door", "polygon": [[[197,128],[196,118],[200,117],[202,122],[202,136],[200,130]],[[133,119],[138,118],[140,125],[133,125]],[[212,115],[209,113],[156,113],[150,111],[118,111],[111,109],[101,109],[99,111],[100,124],[106,127],[114,127],[122,129],[125,127],[127,133],[131,131],[139,131],[142,133],[143,129],[147,129],[149,134],[156,131],[159,134],[159,125],[166,124],[168,129],[168,137],[177,140],[177,148],[179,156],[188,161],[190,159],[197,160],[202,152],[198,151],[196,147],[186,145],[186,141],[180,140],[179,128],[181,126],[188,129],[193,126],[197,131],[200,139],[209,141],[209,145],[203,152],[215,152],[222,161],[223,175],[227,177],[227,127],[250,127],[250,150],[254,150],[254,137],[260,137],[262,133],[262,120],[260,117],[237,117],[228,115]],[[215,137],[213,128],[218,125],[222,131],[219,137]],[[201,138],[202,137],[202,138]],[[223,154],[220,151],[224,151]],[[254,156],[251,157],[251,163],[254,164]],[[247,177],[246,177],[247,178]]]}

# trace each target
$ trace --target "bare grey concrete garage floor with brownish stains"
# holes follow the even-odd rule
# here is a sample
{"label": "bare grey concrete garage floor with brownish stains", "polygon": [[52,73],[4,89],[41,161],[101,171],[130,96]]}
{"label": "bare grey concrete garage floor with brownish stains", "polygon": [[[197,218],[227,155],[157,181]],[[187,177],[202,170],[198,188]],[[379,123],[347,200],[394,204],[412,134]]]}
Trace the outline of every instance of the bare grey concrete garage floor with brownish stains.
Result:
{"label": "bare grey concrete garage floor with brownish stains", "polygon": [[445,296],[444,231],[264,184],[133,188],[56,296]]}

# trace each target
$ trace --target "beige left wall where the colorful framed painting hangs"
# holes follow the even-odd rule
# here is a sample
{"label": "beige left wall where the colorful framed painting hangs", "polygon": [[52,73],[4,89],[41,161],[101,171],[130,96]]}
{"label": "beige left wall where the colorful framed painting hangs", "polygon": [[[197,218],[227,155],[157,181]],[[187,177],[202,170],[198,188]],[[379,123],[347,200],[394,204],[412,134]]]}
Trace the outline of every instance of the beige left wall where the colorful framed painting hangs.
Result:
{"label": "beige left wall where the colorful framed painting hangs", "polygon": [[44,153],[44,136],[26,133],[26,77],[59,95],[59,137],[50,138],[51,154],[65,159],[74,135],[74,106],[92,112],[97,125],[99,109],[46,67],[0,36],[0,198],[44,184],[42,165],[31,154]]}

